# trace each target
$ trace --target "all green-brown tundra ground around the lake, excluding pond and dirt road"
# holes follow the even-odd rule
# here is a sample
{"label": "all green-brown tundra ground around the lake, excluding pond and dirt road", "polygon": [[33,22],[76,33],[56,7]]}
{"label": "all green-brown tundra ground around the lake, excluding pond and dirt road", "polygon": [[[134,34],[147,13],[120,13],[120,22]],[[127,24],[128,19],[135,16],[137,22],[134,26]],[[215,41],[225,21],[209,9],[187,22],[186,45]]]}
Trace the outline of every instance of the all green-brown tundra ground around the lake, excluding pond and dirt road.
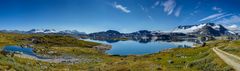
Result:
{"label": "all green-brown tundra ground around the lake, excluding pond and dirt road", "polygon": [[[106,55],[92,47],[99,43],[78,40],[70,36],[36,34],[0,34],[0,50],[7,45],[32,44],[34,51],[45,56],[72,56],[78,63],[49,63],[27,58],[0,54],[0,71],[234,71],[212,50],[222,47],[224,51],[240,55],[240,41],[215,40],[194,48],[174,48],[149,55]],[[229,47],[223,47],[229,46]],[[49,53],[52,52],[52,53]]]}

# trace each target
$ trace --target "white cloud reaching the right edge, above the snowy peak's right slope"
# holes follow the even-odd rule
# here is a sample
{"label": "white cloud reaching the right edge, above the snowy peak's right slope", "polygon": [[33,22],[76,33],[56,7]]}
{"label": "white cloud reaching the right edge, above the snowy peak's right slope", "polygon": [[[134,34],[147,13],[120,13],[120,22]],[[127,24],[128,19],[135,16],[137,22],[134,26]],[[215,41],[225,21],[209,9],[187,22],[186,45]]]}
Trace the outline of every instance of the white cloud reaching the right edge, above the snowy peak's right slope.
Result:
{"label": "white cloud reaching the right edge, above the snowy peak's right slope", "polygon": [[240,16],[239,15],[233,15],[230,18],[223,18],[220,21],[217,21],[216,23],[219,24],[238,24],[240,23]]}

